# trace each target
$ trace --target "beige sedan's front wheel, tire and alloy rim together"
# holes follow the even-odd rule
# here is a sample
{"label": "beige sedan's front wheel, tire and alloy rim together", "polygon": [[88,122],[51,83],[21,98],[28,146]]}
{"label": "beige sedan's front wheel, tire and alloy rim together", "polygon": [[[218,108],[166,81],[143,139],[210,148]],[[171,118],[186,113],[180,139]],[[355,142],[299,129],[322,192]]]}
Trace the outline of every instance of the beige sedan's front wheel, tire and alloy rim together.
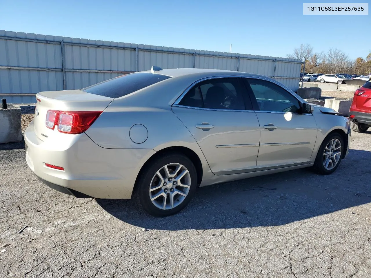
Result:
{"label": "beige sedan's front wheel, tire and alloy rim together", "polygon": [[327,136],[319,147],[314,169],[322,174],[329,175],[338,168],[342,152],[344,152],[344,141],[338,133],[332,133]]}

